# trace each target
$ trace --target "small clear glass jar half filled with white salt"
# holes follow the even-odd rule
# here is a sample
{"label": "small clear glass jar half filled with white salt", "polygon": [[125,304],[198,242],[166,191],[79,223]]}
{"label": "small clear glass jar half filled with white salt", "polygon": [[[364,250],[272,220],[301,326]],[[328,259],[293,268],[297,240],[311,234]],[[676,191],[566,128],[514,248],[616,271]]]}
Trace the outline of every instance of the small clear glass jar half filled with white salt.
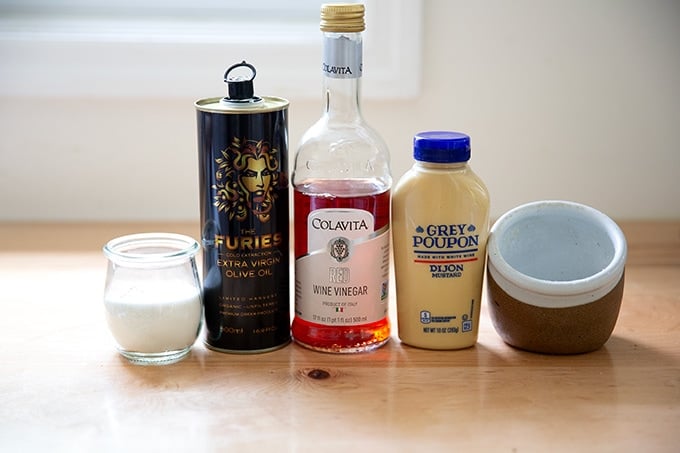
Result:
{"label": "small clear glass jar half filled with white salt", "polygon": [[104,246],[106,320],[129,361],[163,365],[189,353],[203,317],[199,249],[194,239],[171,233],[133,234]]}

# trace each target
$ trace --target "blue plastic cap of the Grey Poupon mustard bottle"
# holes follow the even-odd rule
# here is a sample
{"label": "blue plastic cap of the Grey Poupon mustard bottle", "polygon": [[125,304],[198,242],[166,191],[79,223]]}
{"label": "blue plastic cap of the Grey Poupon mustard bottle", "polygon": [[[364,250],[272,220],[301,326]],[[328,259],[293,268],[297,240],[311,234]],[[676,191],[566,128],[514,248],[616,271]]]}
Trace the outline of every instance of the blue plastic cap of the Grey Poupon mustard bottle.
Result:
{"label": "blue plastic cap of the Grey Poupon mustard bottle", "polygon": [[413,157],[421,162],[448,164],[470,160],[470,137],[460,132],[419,132],[413,137]]}

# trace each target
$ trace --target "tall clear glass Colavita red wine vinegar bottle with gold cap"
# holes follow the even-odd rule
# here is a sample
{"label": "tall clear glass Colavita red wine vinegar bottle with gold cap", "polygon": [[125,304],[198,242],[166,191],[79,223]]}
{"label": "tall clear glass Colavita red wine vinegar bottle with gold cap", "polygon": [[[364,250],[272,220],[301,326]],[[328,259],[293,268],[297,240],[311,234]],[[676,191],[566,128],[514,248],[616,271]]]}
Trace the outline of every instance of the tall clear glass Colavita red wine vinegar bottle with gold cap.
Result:
{"label": "tall clear glass Colavita red wine vinegar bottle with gold cap", "polygon": [[389,340],[389,153],[359,108],[364,6],[321,7],[321,119],[293,171],[295,317],[305,347],[361,352]]}

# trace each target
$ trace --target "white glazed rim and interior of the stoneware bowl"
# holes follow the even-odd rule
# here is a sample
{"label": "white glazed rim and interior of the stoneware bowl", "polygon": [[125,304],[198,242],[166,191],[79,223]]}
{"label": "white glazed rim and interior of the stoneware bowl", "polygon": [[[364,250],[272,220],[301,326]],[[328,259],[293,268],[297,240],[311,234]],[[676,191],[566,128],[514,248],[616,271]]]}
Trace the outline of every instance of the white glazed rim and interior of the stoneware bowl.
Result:
{"label": "white glazed rim and interior of the stoneware bowl", "polygon": [[626,240],[600,211],[538,201],[508,211],[491,228],[489,273],[514,299],[548,308],[600,299],[623,276]]}

